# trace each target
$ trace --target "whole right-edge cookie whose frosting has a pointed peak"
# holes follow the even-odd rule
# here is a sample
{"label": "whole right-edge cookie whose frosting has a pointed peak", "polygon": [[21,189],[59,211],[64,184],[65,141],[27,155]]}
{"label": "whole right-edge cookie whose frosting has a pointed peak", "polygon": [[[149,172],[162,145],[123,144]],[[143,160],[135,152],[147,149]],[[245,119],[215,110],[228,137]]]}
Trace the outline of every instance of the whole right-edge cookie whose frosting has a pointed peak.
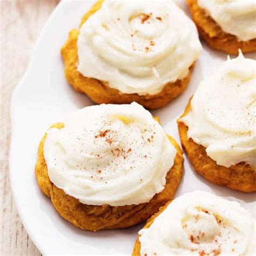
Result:
{"label": "whole right-edge cookie whose frosting has a pointed peak", "polygon": [[194,169],[215,184],[256,191],[255,60],[228,59],[198,86],[178,120]]}

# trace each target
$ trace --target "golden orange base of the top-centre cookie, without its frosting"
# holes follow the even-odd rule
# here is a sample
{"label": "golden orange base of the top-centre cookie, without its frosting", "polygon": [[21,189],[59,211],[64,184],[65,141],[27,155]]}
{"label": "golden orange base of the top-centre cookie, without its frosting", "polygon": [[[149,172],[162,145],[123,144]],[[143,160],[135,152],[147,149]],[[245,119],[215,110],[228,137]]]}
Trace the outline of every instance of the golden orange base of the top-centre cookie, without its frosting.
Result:
{"label": "golden orange base of the top-centre cookie, without its frosting", "polygon": [[[92,14],[94,14],[102,6],[103,0],[96,2],[92,9],[82,18],[80,26],[86,22]],[[129,104],[137,102],[147,109],[157,109],[165,106],[173,98],[179,96],[190,82],[190,74],[194,64],[191,65],[188,75],[174,83],[167,83],[163,90],[157,95],[139,96],[137,93],[127,94],[121,93],[117,89],[111,88],[107,82],[84,77],[77,71],[78,53],[77,53],[77,38],[79,31],[72,29],[69,33],[68,41],[61,49],[62,57],[65,65],[65,76],[69,84],[73,86],[76,91],[83,92],[98,104],[113,103],[113,104]]]}

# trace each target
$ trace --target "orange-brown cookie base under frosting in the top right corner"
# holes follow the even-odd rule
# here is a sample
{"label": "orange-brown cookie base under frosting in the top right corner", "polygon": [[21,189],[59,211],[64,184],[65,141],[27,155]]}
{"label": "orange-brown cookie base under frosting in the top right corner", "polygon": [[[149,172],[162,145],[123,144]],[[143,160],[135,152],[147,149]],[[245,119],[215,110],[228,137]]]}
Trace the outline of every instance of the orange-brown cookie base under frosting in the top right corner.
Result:
{"label": "orange-brown cookie base under frosting in the top right corner", "polygon": [[239,41],[236,36],[224,32],[205,10],[198,6],[197,0],[186,1],[200,36],[212,48],[234,55],[238,54],[239,49],[244,53],[256,51],[256,38]]}

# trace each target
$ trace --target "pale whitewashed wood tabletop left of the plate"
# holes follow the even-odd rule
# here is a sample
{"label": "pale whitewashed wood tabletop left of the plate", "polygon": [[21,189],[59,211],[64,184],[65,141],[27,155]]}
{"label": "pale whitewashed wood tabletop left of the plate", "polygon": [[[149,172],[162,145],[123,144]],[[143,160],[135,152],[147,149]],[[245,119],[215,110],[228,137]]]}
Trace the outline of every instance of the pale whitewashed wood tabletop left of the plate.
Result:
{"label": "pale whitewashed wood tabletop left of the plate", "polygon": [[0,0],[0,255],[41,255],[26,233],[10,191],[10,97],[59,0]]}

